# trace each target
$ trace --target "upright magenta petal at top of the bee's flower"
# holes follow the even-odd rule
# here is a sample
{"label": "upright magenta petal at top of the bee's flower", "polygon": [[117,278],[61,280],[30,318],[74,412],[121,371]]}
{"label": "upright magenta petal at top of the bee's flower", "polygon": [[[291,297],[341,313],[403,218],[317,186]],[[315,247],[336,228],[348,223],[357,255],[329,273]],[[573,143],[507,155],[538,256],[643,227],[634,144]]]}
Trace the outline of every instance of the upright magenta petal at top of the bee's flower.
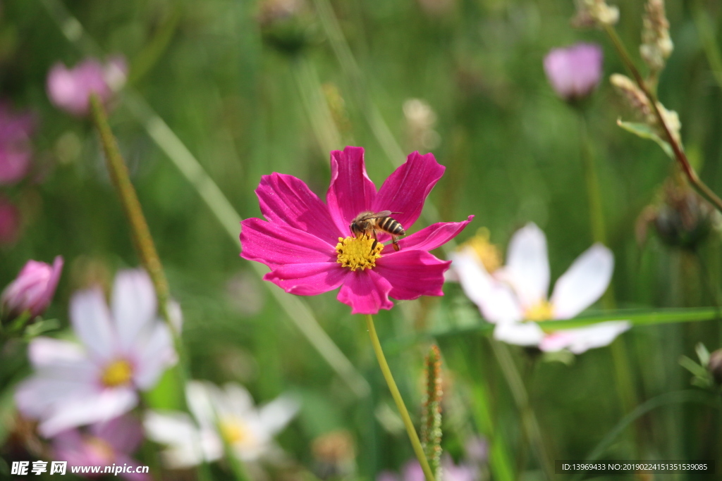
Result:
{"label": "upright magenta petal at top of the bee's flower", "polygon": [[376,186],[366,174],[361,147],[331,151],[331,185],[326,193],[336,226],[350,235],[351,221],[374,205]]}

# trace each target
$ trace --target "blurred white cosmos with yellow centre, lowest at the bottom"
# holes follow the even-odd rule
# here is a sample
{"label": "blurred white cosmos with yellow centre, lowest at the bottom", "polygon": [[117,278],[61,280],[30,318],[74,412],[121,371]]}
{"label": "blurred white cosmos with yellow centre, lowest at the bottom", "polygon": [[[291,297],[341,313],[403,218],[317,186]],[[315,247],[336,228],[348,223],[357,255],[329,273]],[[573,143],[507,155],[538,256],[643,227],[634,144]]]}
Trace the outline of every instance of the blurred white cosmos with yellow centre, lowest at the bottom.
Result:
{"label": "blurred white cosmos with yellow centre, lowest at the bottom", "polygon": [[204,381],[186,386],[190,416],[183,412],[147,412],[148,438],[168,446],[163,462],[171,468],[200,464],[203,459],[222,458],[224,441],[243,462],[254,462],[277,450],[273,438],[296,415],[298,402],[277,397],[256,408],[253,398],[239,384],[223,389]]}

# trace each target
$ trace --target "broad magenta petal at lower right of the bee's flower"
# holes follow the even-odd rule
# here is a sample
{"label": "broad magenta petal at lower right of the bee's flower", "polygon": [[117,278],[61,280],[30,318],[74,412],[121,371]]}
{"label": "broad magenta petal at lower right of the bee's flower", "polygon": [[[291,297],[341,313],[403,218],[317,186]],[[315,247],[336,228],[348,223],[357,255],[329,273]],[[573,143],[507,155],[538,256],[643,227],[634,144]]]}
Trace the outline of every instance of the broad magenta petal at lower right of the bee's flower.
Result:
{"label": "broad magenta petal at lower right of the bee's flower", "polygon": [[443,261],[422,250],[401,250],[376,261],[374,272],[383,276],[393,288],[391,297],[399,300],[419,296],[443,296],[441,286],[451,261]]}

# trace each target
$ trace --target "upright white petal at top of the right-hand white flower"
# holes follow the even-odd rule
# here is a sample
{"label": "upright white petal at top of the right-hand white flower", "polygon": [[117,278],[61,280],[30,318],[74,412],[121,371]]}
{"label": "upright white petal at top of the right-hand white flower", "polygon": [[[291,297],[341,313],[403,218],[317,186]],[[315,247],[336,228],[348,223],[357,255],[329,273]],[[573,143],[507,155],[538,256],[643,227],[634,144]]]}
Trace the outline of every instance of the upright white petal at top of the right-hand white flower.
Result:
{"label": "upright white petal at top of the right-hand white flower", "polygon": [[525,307],[547,299],[549,292],[549,257],[544,232],[530,222],[516,231],[509,243],[505,280],[510,282]]}

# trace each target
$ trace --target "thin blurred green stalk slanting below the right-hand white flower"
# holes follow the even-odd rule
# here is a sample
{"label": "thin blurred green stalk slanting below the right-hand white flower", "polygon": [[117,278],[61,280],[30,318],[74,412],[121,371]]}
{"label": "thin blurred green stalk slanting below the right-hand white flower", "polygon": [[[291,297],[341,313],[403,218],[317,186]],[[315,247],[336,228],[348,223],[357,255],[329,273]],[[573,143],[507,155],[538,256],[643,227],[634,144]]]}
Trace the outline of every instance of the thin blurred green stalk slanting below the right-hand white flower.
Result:
{"label": "thin blurred green stalk slanting below the right-hand white flower", "polygon": [[526,387],[521,380],[521,374],[514,363],[509,348],[504,343],[500,343],[495,339],[490,339],[494,356],[496,356],[499,366],[501,368],[504,379],[506,379],[511,395],[514,398],[516,407],[521,414],[521,422],[526,431],[526,437],[529,439],[531,450],[534,451],[536,461],[539,462],[541,470],[544,472],[544,476],[548,481],[554,479],[554,467],[547,454],[546,446],[544,445],[544,436],[541,436],[541,428],[539,428],[539,421],[536,420],[534,409],[532,409],[529,403],[529,394],[526,392]]}

